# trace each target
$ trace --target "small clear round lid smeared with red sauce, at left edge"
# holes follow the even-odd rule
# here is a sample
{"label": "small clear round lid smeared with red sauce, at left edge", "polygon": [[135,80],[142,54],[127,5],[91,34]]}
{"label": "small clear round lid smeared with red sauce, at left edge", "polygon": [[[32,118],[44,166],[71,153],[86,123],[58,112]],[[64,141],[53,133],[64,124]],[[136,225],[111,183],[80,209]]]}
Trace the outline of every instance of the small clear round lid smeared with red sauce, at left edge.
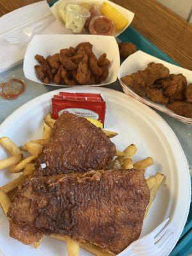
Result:
{"label": "small clear round lid smeared with red sauce, at left edge", "polygon": [[7,82],[1,83],[0,96],[4,99],[16,99],[20,94],[24,92],[26,84],[24,81],[12,78]]}

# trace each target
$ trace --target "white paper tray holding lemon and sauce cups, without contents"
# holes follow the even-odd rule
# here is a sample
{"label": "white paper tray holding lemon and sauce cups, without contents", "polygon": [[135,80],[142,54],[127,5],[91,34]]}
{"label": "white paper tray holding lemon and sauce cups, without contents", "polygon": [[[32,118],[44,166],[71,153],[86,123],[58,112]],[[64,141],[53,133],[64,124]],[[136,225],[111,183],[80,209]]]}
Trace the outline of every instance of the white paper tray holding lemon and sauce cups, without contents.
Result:
{"label": "white paper tray holding lemon and sauce cups, without contents", "polygon": [[[59,1],[56,1],[56,3],[53,4],[53,6],[50,8],[52,14],[54,15],[54,17],[56,17],[56,19],[60,20],[61,24],[63,26],[65,26],[65,22],[63,22],[63,20],[61,19],[60,17],[60,14],[58,12],[59,8],[60,8],[60,4],[63,3],[63,2],[67,2],[68,0],[59,0]],[[82,2],[81,0],[76,0],[75,2]],[[102,4],[103,2],[107,2],[109,4],[111,4],[111,6],[113,6],[114,8],[116,8],[116,10],[118,10],[118,12],[122,13],[122,15],[124,15],[127,19],[128,19],[128,23],[127,23],[127,26],[121,30],[120,32],[118,33],[114,33],[114,36],[119,36],[121,33],[124,32],[125,29],[127,29],[129,27],[129,25],[131,24],[133,18],[134,18],[134,13],[133,12],[130,12],[129,10],[123,8],[122,6],[118,5],[118,4],[115,4],[111,1],[108,1],[108,0],[105,0],[105,1],[102,1],[102,0],[90,0],[90,1],[84,1],[84,2],[87,2],[87,3],[97,3],[97,4]],[[68,29],[69,30],[69,29]],[[85,29],[84,29],[85,31]],[[87,32],[85,31],[84,33],[87,34]]]}

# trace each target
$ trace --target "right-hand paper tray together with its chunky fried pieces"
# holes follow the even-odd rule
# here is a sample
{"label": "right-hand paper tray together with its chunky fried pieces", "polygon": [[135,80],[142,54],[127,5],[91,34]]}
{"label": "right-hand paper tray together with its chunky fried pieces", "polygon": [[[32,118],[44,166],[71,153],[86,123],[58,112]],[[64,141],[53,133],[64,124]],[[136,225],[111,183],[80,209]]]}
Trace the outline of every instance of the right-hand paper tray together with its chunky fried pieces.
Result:
{"label": "right-hand paper tray together with its chunky fried pieces", "polygon": [[118,72],[124,92],[186,124],[192,124],[192,71],[138,51]]}

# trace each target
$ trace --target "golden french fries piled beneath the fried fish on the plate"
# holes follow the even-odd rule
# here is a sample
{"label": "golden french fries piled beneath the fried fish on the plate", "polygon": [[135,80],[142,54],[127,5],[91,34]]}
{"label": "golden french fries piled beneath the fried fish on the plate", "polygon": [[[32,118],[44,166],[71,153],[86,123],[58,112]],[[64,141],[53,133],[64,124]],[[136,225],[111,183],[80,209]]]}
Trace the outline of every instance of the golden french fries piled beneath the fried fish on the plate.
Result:
{"label": "golden french fries piled beneath the fried fish on the plate", "polygon": [[[15,143],[13,143],[10,138],[0,138],[0,144],[10,153],[10,157],[0,161],[0,170],[7,169],[8,172],[11,173],[22,173],[22,175],[20,175],[17,179],[12,180],[12,182],[0,188],[0,204],[5,214],[7,214],[10,204],[12,204],[12,199],[15,195],[15,192],[17,191],[17,187],[22,185],[23,182],[28,178],[28,176],[31,175],[35,170],[36,157],[38,157],[38,155],[42,152],[44,145],[49,140],[55,122],[56,120],[52,119],[51,113],[48,113],[47,116],[45,116],[44,118],[43,138],[40,140],[28,141],[20,148],[17,147],[17,145],[15,145]],[[108,136],[108,138],[113,138],[117,135],[116,132],[106,131],[104,129],[102,129],[102,131],[106,134],[106,136]],[[141,170],[141,172],[145,172],[145,169],[148,166],[154,164],[153,159],[152,157],[147,157],[141,161],[133,163],[132,156],[136,154],[136,151],[137,148],[134,144],[126,147],[123,152],[116,150],[116,158],[111,161],[108,169],[135,168]],[[28,152],[29,156],[24,158],[23,152]],[[157,172],[156,175],[147,179],[147,185],[150,189],[150,202],[145,211],[145,217],[147,216],[150,205],[152,204],[159,187],[163,183],[163,180],[164,175],[159,172]],[[80,247],[88,250],[88,252],[91,252],[97,256],[111,256],[111,253],[105,252],[104,250],[99,248],[99,246],[95,246],[91,243],[78,243],[77,241],[74,241],[74,239],[68,236],[52,235],[51,237],[60,239],[61,241],[65,241],[67,243],[68,256],[78,256]],[[38,248],[40,242],[41,241],[35,243],[34,248]]]}

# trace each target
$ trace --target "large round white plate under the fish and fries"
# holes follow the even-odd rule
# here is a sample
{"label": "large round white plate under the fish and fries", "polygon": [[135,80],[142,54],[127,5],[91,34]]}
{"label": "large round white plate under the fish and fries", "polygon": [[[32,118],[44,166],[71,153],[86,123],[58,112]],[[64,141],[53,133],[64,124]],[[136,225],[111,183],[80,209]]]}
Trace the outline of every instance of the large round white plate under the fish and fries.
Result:
{"label": "large round white plate under the fish and fries", "polygon": [[[161,221],[170,217],[175,225],[175,234],[169,248],[163,253],[168,255],[177,243],[186,223],[190,204],[190,177],[184,152],[172,129],[155,111],[137,100],[128,98],[124,93],[106,88],[67,88],[56,90],[29,101],[10,115],[0,125],[0,136],[9,136],[17,145],[25,141],[42,137],[42,118],[51,111],[52,95],[60,91],[102,93],[107,104],[105,128],[118,132],[113,142],[119,150],[130,143],[135,143],[138,152],[133,157],[138,161],[147,156],[154,159],[154,166],[147,169],[147,175],[157,171],[166,175],[166,182],[161,186],[144,221],[141,236],[154,230]],[[0,159],[6,157],[0,148]],[[6,171],[0,172],[0,186],[17,175]],[[0,207],[1,208],[1,207]],[[8,220],[0,209],[0,248],[6,256],[60,256],[67,255],[65,243],[44,237],[40,248],[25,246],[8,236]],[[65,254],[66,253],[66,254]],[[81,256],[91,255],[81,250]]]}

